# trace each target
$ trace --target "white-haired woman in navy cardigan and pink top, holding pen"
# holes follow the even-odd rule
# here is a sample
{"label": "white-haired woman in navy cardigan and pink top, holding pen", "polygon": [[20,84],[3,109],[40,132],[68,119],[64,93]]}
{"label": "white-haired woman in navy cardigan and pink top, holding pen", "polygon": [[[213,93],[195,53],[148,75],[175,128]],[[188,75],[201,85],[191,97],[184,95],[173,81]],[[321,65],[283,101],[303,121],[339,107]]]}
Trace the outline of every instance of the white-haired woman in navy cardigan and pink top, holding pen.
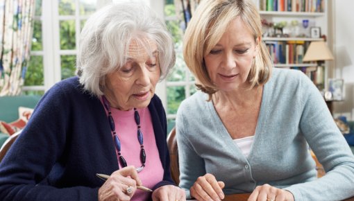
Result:
{"label": "white-haired woman in navy cardigan and pink top, holding pen", "polygon": [[170,177],[165,110],[154,94],[174,62],[171,36],[146,6],[117,3],[92,15],[77,77],[47,91],[1,163],[0,200],[185,200]]}

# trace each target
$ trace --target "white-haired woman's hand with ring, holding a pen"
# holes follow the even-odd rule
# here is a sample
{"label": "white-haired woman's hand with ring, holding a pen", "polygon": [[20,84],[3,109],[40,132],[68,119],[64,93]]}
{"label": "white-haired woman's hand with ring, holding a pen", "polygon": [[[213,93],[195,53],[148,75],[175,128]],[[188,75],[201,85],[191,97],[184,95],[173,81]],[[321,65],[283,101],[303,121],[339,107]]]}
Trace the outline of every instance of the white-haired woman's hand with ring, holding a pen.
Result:
{"label": "white-haired woman's hand with ring, holding a pen", "polygon": [[137,176],[134,166],[127,166],[115,171],[99,189],[99,201],[130,200],[142,181]]}

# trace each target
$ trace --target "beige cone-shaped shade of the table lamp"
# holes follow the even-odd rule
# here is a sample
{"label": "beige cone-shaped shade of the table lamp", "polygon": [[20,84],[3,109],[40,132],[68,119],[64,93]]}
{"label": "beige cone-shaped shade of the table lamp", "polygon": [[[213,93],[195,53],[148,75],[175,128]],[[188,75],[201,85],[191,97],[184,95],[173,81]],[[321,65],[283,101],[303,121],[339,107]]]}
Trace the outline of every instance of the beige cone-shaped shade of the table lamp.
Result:
{"label": "beige cone-shaped shade of the table lamp", "polygon": [[333,55],[330,53],[330,49],[323,41],[313,41],[307,48],[305,56],[303,57],[304,62],[310,61],[324,61],[333,60]]}

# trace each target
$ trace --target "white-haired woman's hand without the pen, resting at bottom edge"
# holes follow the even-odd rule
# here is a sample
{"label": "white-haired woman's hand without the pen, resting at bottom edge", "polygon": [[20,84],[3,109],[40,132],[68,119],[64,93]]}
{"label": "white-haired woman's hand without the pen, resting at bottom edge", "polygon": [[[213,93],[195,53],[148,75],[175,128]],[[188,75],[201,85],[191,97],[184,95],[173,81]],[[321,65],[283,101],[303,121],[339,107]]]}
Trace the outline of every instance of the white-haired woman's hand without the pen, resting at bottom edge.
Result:
{"label": "white-haired woman's hand without the pen, resting at bottom edge", "polygon": [[180,189],[174,185],[161,186],[153,191],[153,201],[166,200],[166,201],[183,201],[185,198],[185,190]]}

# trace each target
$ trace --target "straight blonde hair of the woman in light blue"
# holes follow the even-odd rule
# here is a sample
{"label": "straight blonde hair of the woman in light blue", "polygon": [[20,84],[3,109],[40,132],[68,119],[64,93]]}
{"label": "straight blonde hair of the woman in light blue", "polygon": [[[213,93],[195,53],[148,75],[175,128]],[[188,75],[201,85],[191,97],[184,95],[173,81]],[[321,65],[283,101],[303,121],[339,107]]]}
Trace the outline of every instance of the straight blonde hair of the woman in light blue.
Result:
{"label": "straight blonde hair of the woman in light blue", "polygon": [[259,39],[259,50],[255,56],[248,82],[251,88],[269,80],[272,62],[267,48],[262,42],[262,24],[260,14],[250,0],[203,0],[196,8],[194,17],[189,21],[183,41],[183,56],[187,67],[196,76],[196,86],[206,94],[209,100],[218,91],[204,64],[204,55],[208,54],[224,35],[231,21],[240,17],[252,33],[255,42]]}

